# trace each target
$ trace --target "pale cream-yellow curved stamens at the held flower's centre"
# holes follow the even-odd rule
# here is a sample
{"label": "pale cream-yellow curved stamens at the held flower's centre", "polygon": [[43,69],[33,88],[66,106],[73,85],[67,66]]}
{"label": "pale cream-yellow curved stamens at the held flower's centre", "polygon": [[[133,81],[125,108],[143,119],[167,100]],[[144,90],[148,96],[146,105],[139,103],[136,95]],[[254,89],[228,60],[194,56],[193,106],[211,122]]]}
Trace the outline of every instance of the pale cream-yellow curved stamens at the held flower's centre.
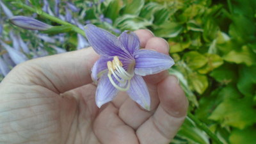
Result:
{"label": "pale cream-yellow curved stamens at the held flower's centre", "polygon": [[[108,61],[108,78],[111,84],[113,86],[122,91],[125,92],[129,90],[131,86],[131,79],[134,76],[134,65],[135,62],[132,62],[129,67],[127,68],[127,71],[123,68],[122,62],[118,59],[117,56],[114,56],[113,61]],[[119,84],[116,84],[113,80],[113,77],[115,77],[116,81],[119,82]]]}

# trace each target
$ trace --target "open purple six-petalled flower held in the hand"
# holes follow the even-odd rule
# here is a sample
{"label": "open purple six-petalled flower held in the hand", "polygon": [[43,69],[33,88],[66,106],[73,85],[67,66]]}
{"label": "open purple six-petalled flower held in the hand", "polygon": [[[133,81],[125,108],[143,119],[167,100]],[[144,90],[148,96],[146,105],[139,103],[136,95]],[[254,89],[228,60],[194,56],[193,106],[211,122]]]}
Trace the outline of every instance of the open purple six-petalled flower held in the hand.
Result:
{"label": "open purple six-petalled flower held in the hand", "polygon": [[170,56],[140,49],[138,36],[125,31],[118,38],[92,24],[85,33],[93,49],[101,55],[92,68],[92,79],[98,81],[96,104],[100,108],[111,101],[118,90],[127,92],[132,100],[150,109],[150,95],[142,76],[156,74],[174,64]]}

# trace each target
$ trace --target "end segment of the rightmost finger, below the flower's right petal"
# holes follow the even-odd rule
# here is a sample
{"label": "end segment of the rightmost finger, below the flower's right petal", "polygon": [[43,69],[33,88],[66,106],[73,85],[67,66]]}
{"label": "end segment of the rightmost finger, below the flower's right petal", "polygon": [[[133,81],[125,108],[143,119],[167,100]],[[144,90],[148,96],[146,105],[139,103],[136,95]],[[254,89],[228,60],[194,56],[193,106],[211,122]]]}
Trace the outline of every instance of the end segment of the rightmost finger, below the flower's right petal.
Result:
{"label": "end segment of the rightmost finger, below the flower's right petal", "polygon": [[175,117],[187,115],[188,99],[180,88],[177,77],[166,77],[159,83],[157,89],[161,106],[166,112]]}

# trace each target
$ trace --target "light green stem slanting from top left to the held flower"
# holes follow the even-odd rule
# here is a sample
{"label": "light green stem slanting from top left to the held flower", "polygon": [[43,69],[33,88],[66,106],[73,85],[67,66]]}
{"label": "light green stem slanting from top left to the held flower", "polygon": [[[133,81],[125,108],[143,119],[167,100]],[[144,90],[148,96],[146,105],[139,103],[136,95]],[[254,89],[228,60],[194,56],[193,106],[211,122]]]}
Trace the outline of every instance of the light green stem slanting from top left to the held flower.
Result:
{"label": "light green stem slanting from top left to the held flower", "polygon": [[28,6],[26,4],[22,4],[22,3],[15,3],[18,6],[20,6],[21,8],[24,8],[26,10],[29,10],[31,12],[35,12],[38,15],[40,15],[41,17],[45,18],[45,19],[49,19],[52,22],[57,22],[58,24],[62,24],[64,26],[72,26],[72,30],[75,31],[76,33],[79,33],[83,36],[85,36],[85,33],[83,31],[83,29],[78,28],[77,26],[75,26],[74,24],[70,24],[69,22],[66,22],[64,20],[58,19],[57,17],[54,17],[52,15],[49,15],[48,13],[45,12],[37,12],[35,8],[32,8],[31,6]]}

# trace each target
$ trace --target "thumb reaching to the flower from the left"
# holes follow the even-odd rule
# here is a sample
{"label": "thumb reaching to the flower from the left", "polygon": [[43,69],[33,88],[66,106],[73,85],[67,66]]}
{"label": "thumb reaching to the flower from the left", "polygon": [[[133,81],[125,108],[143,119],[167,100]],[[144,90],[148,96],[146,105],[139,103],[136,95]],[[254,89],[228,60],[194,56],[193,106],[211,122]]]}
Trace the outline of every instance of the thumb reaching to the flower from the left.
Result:
{"label": "thumb reaching to the flower from the left", "polygon": [[98,58],[99,55],[92,47],[46,56],[18,65],[5,80],[22,74],[24,77],[20,83],[36,84],[63,93],[92,83],[91,68]]}

